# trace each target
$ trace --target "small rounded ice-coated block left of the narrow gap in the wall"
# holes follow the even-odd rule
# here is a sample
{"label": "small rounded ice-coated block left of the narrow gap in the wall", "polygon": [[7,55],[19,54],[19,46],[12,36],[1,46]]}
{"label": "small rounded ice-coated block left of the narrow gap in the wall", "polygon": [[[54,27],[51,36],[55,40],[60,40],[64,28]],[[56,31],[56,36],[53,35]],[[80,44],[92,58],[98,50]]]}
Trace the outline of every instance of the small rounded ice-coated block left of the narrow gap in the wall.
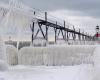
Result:
{"label": "small rounded ice-coated block left of the narrow gap in the wall", "polygon": [[6,54],[7,54],[7,62],[9,65],[17,65],[18,64],[18,51],[12,45],[6,46]]}

